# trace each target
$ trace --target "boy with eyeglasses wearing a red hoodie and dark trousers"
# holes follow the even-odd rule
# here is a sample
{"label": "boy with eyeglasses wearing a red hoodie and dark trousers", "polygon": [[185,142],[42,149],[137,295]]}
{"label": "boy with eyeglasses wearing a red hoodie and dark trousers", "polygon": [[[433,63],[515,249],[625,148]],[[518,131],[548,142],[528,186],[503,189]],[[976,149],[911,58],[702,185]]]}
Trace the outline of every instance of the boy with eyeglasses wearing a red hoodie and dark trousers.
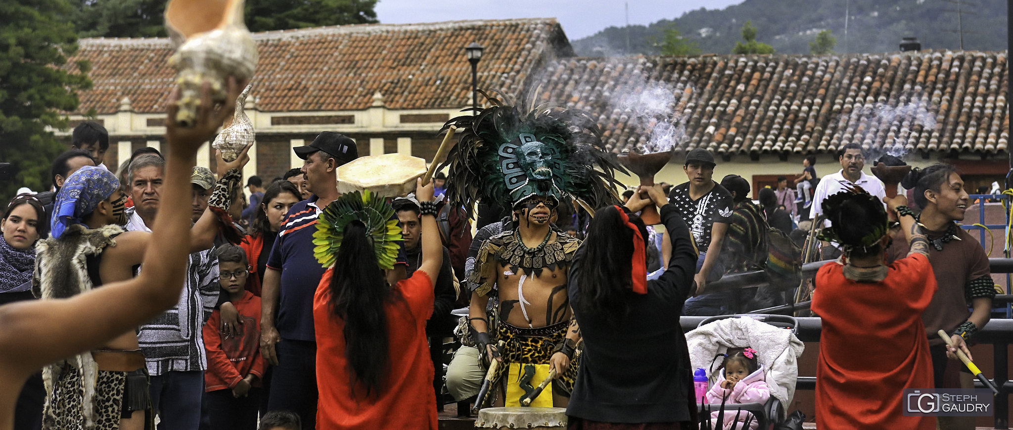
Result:
{"label": "boy with eyeglasses wearing a red hoodie and dark trousers", "polygon": [[214,429],[255,430],[260,405],[260,378],[266,362],[260,355],[260,297],[244,288],[249,265],[242,248],[221,246],[218,281],[242,322],[236,335],[219,329],[221,311],[204,326],[208,370],[205,372],[208,416]]}

